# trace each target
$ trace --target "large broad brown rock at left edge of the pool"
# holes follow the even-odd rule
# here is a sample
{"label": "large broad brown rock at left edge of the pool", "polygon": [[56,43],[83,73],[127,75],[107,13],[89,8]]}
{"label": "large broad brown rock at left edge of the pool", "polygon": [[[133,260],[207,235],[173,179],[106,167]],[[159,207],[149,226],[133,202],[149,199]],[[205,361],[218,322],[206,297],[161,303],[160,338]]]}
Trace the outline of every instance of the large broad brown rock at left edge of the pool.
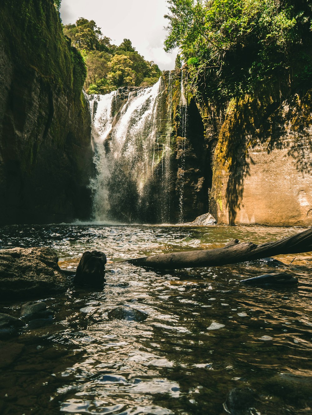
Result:
{"label": "large broad brown rock at left edge of the pool", "polygon": [[0,298],[54,295],[67,288],[67,279],[50,248],[0,250]]}

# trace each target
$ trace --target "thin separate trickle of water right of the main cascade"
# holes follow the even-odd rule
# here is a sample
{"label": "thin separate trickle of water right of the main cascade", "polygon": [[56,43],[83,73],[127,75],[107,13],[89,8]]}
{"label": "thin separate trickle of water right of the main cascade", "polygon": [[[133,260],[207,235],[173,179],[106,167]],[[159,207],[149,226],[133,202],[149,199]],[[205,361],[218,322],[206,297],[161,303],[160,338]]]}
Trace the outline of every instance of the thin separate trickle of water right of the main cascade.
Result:
{"label": "thin separate trickle of water right of the main cascade", "polygon": [[183,222],[183,200],[184,200],[184,171],[185,171],[185,149],[187,129],[187,101],[183,83],[183,69],[181,69],[181,95],[180,95],[180,130],[181,130],[181,164],[179,168],[179,222]]}

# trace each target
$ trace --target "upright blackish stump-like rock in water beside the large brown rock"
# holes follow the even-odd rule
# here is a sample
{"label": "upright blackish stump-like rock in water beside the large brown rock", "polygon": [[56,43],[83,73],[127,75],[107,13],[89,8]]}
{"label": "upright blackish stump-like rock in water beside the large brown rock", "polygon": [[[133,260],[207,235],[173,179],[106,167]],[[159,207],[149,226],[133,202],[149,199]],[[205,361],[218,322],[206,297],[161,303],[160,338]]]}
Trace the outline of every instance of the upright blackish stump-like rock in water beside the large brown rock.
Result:
{"label": "upright blackish stump-like rock in water beside the large brown rock", "polygon": [[100,251],[84,252],[77,267],[75,284],[101,286],[105,279],[106,255]]}

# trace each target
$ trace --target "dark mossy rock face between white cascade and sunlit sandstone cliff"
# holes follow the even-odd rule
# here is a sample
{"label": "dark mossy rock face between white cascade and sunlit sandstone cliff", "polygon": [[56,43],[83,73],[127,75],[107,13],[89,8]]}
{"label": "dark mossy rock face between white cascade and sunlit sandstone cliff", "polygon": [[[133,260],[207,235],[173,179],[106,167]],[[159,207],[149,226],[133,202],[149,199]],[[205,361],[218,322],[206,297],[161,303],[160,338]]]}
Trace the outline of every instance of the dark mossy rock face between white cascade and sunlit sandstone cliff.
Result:
{"label": "dark mossy rock face between white cascade and sunlit sandstone cliff", "polygon": [[[177,69],[162,76],[154,177],[144,201],[145,219],[151,222],[188,222],[208,212],[209,143],[195,100],[181,87],[186,76],[185,69],[183,75]],[[170,153],[164,151],[168,147]]]}

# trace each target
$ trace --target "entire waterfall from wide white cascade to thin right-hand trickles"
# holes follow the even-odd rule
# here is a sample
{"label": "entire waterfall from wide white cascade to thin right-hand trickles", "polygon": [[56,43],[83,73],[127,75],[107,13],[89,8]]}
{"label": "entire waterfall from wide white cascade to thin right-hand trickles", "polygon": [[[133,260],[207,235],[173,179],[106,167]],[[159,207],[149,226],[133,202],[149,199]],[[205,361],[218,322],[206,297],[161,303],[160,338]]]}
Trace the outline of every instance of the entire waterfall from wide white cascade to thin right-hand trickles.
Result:
{"label": "entire waterfall from wide white cascade to thin right-hand trickles", "polygon": [[[183,220],[187,129],[183,72],[180,91],[175,71],[166,79],[167,83],[161,77],[151,87],[123,87],[89,97],[96,168],[91,188],[97,222],[169,223],[175,215]],[[173,114],[180,114],[182,136],[177,173],[172,163]]]}

